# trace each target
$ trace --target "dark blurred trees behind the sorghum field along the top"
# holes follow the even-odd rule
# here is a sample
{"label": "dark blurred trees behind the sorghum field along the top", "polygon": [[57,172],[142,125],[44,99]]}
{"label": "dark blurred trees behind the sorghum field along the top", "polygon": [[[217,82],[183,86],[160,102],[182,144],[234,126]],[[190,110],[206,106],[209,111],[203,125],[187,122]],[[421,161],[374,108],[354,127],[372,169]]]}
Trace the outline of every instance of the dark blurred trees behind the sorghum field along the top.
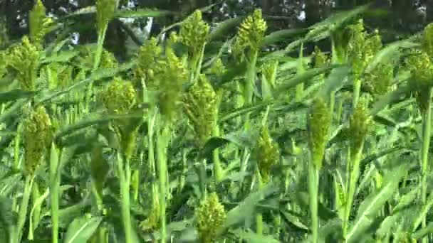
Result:
{"label": "dark blurred trees behind the sorghum field along the top", "polygon": [[[287,28],[306,28],[330,16],[335,11],[353,9],[372,0],[120,0],[120,8],[136,7],[171,11],[172,14],[152,19],[137,18],[134,21],[120,19],[112,21],[108,27],[105,48],[124,59],[127,48],[140,45],[150,35],[160,33],[162,28],[176,23],[192,13],[194,9],[215,4],[204,14],[212,23],[224,21],[228,17],[245,16],[259,7],[268,21],[269,32]],[[367,28],[379,28],[383,41],[395,41],[417,33],[427,23],[433,21],[433,0],[376,0],[372,5],[375,16],[365,18]],[[69,13],[95,4],[95,0],[43,0],[49,15],[62,18]],[[19,40],[28,33],[28,11],[33,6],[31,0],[0,0],[0,35],[9,41]],[[386,14],[385,14],[386,13]],[[94,15],[80,15],[70,18],[68,28],[72,28],[78,44],[94,43],[97,38]],[[79,21],[78,21],[79,20]],[[149,21],[151,21],[149,23]],[[147,28],[146,28],[147,26]],[[6,27],[6,28],[4,28]],[[150,28],[149,28],[150,27]],[[145,31],[144,34],[142,31]],[[71,32],[69,32],[71,33]],[[52,36],[55,38],[55,36]],[[287,40],[289,43],[291,40]],[[281,43],[284,45],[285,43]],[[323,43],[326,48],[328,43]],[[312,46],[306,51],[311,52]],[[133,50],[133,49],[132,49]]]}

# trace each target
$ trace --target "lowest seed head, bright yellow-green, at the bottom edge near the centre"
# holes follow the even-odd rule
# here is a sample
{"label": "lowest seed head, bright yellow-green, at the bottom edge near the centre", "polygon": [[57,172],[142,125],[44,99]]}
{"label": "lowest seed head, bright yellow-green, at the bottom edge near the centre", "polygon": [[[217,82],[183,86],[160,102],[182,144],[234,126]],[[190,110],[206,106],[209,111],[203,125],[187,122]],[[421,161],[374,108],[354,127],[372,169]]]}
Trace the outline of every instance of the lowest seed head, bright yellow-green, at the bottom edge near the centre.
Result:
{"label": "lowest seed head, bright yellow-green, at the bottom edge near the centre", "polygon": [[199,239],[202,243],[212,243],[216,240],[217,232],[226,220],[226,210],[219,202],[218,195],[212,193],[197,208]]}

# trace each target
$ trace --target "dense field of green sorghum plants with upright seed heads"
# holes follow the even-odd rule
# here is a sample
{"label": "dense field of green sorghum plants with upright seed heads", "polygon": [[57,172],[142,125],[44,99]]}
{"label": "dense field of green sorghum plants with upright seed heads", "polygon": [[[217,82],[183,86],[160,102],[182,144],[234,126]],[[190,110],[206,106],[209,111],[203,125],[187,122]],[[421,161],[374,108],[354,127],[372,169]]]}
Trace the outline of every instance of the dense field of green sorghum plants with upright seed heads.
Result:
{"label": "dense field of green sorghum plants with upright seed heads", "polygon": [[433,242],[433,24],[382,43],[369,6],[273,33],[209,9],[120,61],[108,23],[165,11],[36,1],[0,50],[0,242]]}

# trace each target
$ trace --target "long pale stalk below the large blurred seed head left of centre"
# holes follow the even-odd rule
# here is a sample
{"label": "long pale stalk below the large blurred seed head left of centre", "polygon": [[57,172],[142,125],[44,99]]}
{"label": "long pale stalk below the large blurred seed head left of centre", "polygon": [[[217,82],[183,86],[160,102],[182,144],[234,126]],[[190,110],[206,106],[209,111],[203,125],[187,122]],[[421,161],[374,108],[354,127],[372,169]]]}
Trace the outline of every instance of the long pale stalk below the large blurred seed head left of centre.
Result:
{"label": "long pale stalk below the large blurred seed head left of centre", "polygon": [[162,131],[157,134],[157,168],[160,183],[160,242],[167,241],[167,222],[165,217],[166,198],[167,198],[167,147],[170,130],[168,126],[163,126]]}

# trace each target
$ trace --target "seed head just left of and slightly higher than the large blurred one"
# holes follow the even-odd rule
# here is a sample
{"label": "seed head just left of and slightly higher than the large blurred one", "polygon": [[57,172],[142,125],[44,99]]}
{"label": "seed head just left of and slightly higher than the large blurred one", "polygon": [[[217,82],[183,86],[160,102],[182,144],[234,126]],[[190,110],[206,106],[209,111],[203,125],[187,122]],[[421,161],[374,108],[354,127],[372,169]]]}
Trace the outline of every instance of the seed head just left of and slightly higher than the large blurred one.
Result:
{"label": "seed head just left of and slightly higher than the large blurred one", "polygon": [[161,53],[162,49],[156,38],[151,38],[140,47],[137,68],[134,70],[135,80],[145,80],[146,85],[157,86],[155,84],[155,72],[159,70],[158,58],[160,58]]}

